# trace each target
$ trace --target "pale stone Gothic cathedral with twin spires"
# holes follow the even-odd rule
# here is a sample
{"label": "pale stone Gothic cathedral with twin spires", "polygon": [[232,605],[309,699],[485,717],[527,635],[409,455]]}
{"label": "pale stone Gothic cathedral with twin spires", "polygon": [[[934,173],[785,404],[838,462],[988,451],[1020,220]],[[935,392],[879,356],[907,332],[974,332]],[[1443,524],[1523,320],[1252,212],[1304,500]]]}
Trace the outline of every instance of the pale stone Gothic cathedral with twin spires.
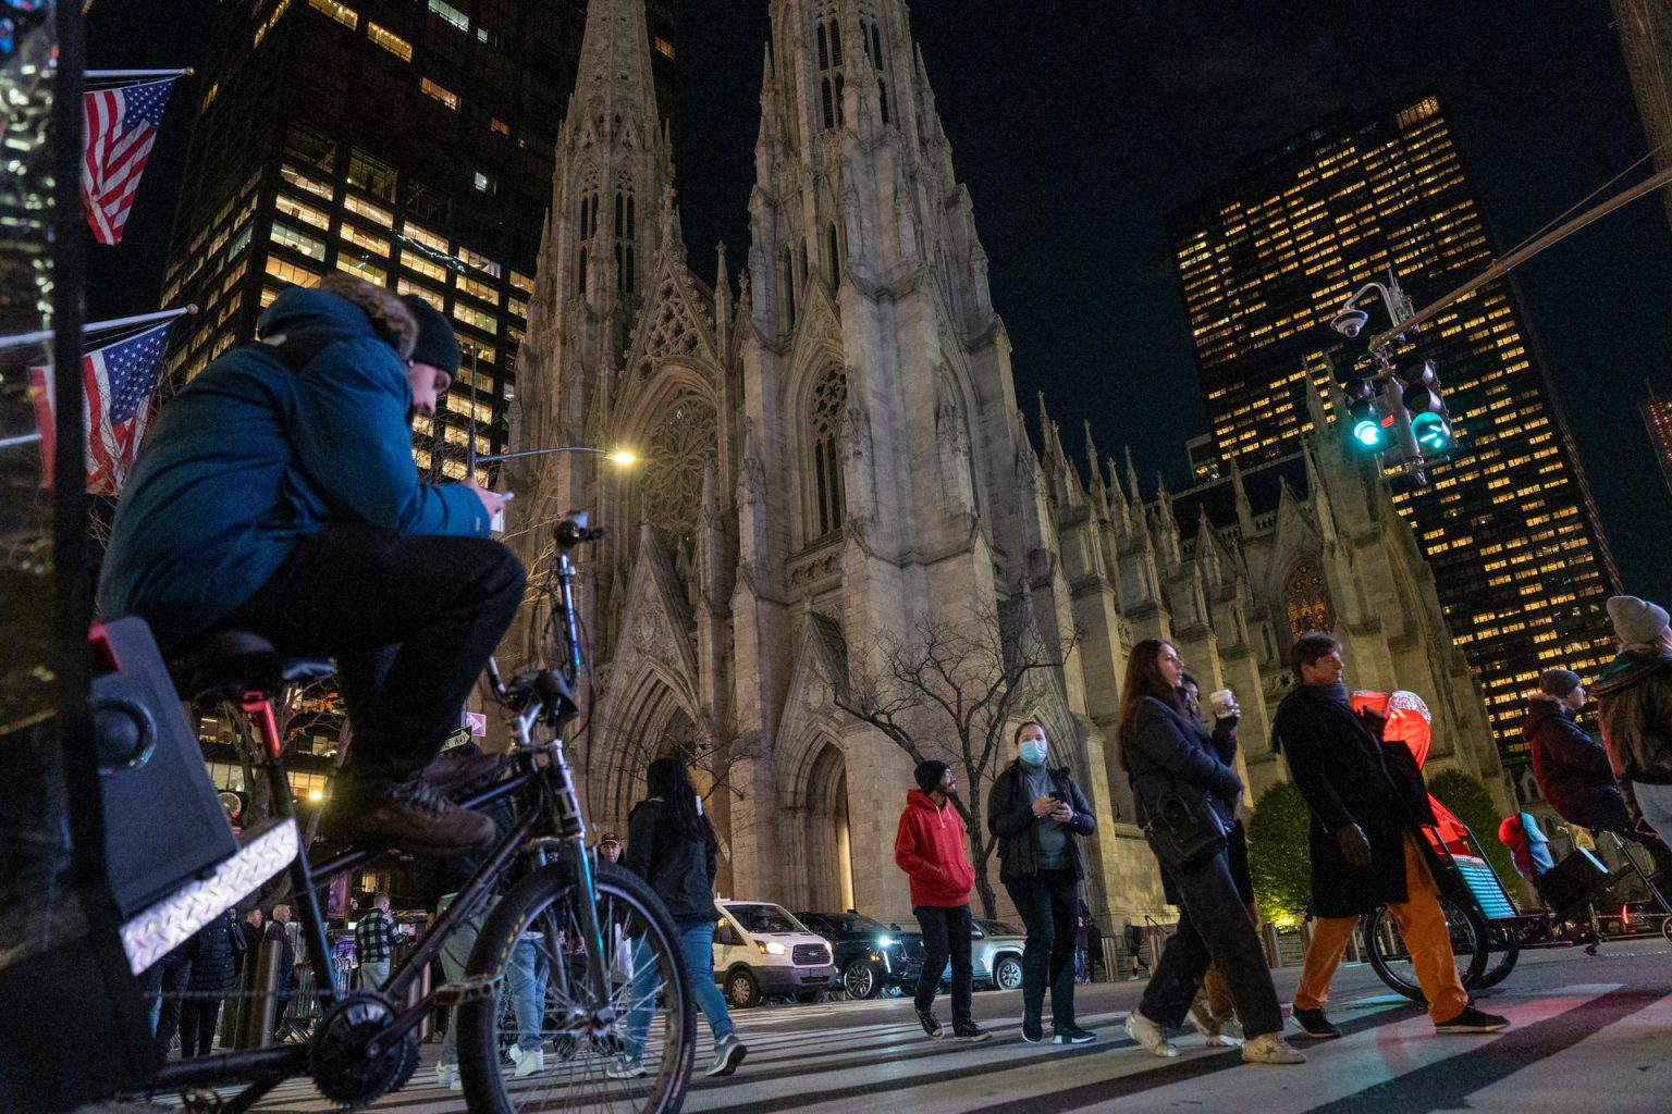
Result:
{"label": "pale stone Gothic cathedral with twin spires", "polygon": [[[1130,459],[1124,481],[1095,448],[1070,463],[1043,403],[1035,446],[905,0],[772,0],[771,20],[736,279],[724,251],[711,277],[687,269],[640,0],[592,0],[558,130],[512,448],[624,444],[644,463],[517,461],[508,541],[538,581],[565,509],[610,531],[582,558],[594,681],[572,760],[594,825],[624,830],[644,767],[681,753],[724,894],[910,915],[893,838],[913,758],[838,710],[833,683],[890,631],[998,613],[1073,643],[1017,715],[1050,727],[1099,813],[1099,914],[1162,909],[1114,752],[1140,638],[1237,691],[1251,800],[1282,777],[1269,720],[1314,626],[1343,638],[1349,683],[1428,700],[1431,763],[1501,792],[1378,478],[1321,438],[1145,501]],[[507,656],[533,651],[542,616],[532,600]]]}

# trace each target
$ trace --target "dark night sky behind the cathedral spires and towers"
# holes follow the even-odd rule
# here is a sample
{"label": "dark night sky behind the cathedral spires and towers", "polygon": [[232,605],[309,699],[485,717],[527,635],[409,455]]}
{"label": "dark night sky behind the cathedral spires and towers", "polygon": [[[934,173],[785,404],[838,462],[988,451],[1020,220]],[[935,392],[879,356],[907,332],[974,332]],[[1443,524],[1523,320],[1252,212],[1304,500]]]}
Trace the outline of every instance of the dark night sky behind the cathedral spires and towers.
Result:
{"label": "dark night sky behind the cathedral spires and towers", "polygon": [[[171,0],[159,28],[150,3],[100,0],[92,62],[189,62],[212,7]],[[712,277],[724,241],[736,274],[767,5],[706,0],[686,12],[674,134],[686,242]],[[1184,441],[1206,431],[1162,217],[1237,157],[1336,109],[1435,82],[1506,251],[1647,149],[1607,0],[916,0],[911,13],[953,165],[975,200],[1022,408],[1032,418],[1043,391],[1075,453],[1090,418],[1104,454],[1132,446],[1147,486],[1157,471],[1184,476]],[[127,241],[94,259],[95,317],[155,306],[189,130],[181,100]],[[1660,548],[1672,496],[1637,414],[1645,379],[1672,391],[1665,209],[1645,197],[1517,276],[1624,586],[1672,600]]]}

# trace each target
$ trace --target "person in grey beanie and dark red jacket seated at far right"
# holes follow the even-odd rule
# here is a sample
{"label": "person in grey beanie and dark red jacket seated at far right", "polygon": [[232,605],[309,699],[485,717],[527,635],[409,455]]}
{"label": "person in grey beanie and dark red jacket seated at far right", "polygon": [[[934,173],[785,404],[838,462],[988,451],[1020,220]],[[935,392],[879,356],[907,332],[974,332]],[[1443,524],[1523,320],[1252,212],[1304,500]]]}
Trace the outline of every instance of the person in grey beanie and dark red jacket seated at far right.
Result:
{"label": "person in grey beanie and dark red jacket seated at far right", "polygon": [[[1647,680],[1647,675],[1644,676]],[[1672,676],[1665,685],[1665,691],[1672,696]],[[1625,691],[1630,688],[1627,685]],[[1617,690],[1610,686],[1608,691]],[[1613,696],[1610,696],[1610,705],[1617,713],[1622,711]],[[1557,815],[1568,823],[1613,832],[1639,843],[1654,860],[1655,872],[1672,882],[1672,848],[1657,830],[1645,830],[1644,818],[1637,815],[1640,805],[1635,785],[1629,798],[1613,777],[1607,748],[1577,723],[1578,710],[1583,706],[1585,686],[1580,683],[1578,673],[1555,668],[1540,675],[1538,691],[1528,696],[1527,718],[1522,722],[1522,738],[1527,740],[1532,752],[1538,788]],[[1672,701],[1669,701],[1669,711],[1672,711]],[[1620,718],[1625,717],[1620,715]],[[1672,727],[1672,715],[1669,715],[1667,723]],[[1669,762],[1667,770],[1672,777],[1672,762]]]}

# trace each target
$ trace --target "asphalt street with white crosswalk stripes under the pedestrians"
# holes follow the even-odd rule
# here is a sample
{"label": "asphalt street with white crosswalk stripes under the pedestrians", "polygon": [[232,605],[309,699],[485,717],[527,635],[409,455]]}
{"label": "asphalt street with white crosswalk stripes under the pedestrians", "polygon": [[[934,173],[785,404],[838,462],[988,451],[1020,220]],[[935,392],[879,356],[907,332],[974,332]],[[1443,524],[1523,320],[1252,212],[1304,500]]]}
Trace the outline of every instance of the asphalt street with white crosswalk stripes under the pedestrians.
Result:
{"label": "asphalt street with white crosswalk stripes under the pedestrians", "polygon": [[[1279,995],[1296,969],[1274,972]],[[928,1041],[908,999],[762,1005],[737,1010],[749,1057],[731,1079],[692,1082],[686,1111],[734,1114],[1057,1114],[1067,1111],[1234,1111],[1256,1114],[1660,1114],[1672,1111],[1672,945],[1659,937],[1533,950],[1478,995],[1513,1025],[1490,1036],[1436,1037],[1421,1007],[1396,997],[1363,964],[1343,965],[1329,1015],[1346,1037],[1308,1042],[1297,1067],[1244,1066],[1236,1051],[1179,1037],[1182,1056],[1155,1059],[1122,1030],[1142,982],[1082,985],[1078,1020],[1099,1041],[1023,1044],[1020,994],[980,992],[983,1044]],[[940,1004],[946,1020],[945,1002]],[[709,1056],[704,1025],[699,1071]],[[950,1027],[950,1025],[948,1025]],[[435,1086],[436,1046],[401,1092],[373,1109],[463,1111]],[[306,1081],[259,1107],[269,1114],[334,1109]]]}

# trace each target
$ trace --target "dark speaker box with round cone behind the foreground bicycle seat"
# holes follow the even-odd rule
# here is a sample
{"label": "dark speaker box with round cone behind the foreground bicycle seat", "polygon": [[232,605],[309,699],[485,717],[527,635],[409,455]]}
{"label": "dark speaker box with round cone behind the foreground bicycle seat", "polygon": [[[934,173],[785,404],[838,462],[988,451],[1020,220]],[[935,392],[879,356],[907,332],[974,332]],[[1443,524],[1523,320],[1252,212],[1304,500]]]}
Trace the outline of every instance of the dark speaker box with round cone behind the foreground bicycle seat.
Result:
{"label": "dark speaker box with round cone behind the foreground bicycle seat", "polygon": [[142,620],[94,626],[89,693],[110,890],[132,917],[231,858],[237,840]]}

